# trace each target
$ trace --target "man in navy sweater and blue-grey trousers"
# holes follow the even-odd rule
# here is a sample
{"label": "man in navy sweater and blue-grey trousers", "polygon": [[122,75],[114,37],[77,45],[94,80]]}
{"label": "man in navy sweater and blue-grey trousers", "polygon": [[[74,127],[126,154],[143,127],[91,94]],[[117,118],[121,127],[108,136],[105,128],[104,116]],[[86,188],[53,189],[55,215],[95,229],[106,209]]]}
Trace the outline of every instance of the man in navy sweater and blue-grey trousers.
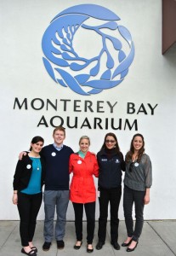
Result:
{"label": "man in navy sweater and blue-grey trousers", "polygon": [[73,150],[65,145],[65,128],[56,127],[53,133],[54,143],[43,148],[42,157],[46,163],[44,201],[44,239],[43,251],[48,251],[54,236],[54,212],[57,220],[55,224],[55,239],[59,249],[65,247],[66,210],[69,203],[69,159]]}

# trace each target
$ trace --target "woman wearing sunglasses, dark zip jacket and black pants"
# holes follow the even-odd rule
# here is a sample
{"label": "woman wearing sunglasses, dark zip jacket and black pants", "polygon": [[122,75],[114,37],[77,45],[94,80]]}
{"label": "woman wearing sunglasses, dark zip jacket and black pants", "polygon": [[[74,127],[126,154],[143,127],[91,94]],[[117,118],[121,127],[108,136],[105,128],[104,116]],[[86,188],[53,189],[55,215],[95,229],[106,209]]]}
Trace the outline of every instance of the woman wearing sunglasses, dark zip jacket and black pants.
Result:
{"label": "woman wearing sunglasses, dark zip jacket and black pants", "polygon": [[97,154],[99,163],[99,241],[96,249],[100,250],[105,244],[108,204],[111,207],[111,245],[119,250],[118,240],[118,208],[122,195],[122,171],[125,171],[125,162],[120,152],[116,135],[107,133],[105,141]]}

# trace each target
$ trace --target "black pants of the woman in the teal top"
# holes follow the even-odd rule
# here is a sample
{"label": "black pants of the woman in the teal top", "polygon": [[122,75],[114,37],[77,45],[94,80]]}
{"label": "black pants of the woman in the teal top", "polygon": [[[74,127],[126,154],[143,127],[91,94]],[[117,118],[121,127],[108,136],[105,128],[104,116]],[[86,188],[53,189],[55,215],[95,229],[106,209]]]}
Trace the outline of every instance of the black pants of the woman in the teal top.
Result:
{"label": "black pants of the woman in the teal top", "polygon": [[43,193],[27,195],[18,193],[18,210],[20,214],[20,239],[23,247],[29,246],[36,229],[36,219],[43,201]]}

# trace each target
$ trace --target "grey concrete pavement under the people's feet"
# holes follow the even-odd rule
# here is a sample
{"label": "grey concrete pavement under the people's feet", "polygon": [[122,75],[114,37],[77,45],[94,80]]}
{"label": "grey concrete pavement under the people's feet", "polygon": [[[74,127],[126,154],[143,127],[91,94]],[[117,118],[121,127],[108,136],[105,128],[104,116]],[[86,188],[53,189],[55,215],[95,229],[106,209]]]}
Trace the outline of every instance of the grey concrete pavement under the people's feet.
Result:
{"label": "grey concrete pavement under the people's feet", "polygon": [[[107,225],[105,245],[101,250],[96,250],[98,222],[95,225],[94,252],[92,256],[127,256],[125,247],[116,251],[110,243],[110,224]],[[48,252],[43,252],[43,221],[37,221],[37,229],[33,243],[38,248],[37,256],[81,256],[86,252],[86,222],[83,223],[83,243],[79,250],[74,250],[75,227],[73,222],[67,222],[65,234],[65,248],[58,250],[53,241]],[[126,239],[124,221],[119,225],[119,244]],[[0,256],[19,256],[20,253],[19,221],[0,221]],[[176,220],[171,221],[145,221],[143,233],[138,247],[130,255],[135,256],[173,256],[176,255]]]}

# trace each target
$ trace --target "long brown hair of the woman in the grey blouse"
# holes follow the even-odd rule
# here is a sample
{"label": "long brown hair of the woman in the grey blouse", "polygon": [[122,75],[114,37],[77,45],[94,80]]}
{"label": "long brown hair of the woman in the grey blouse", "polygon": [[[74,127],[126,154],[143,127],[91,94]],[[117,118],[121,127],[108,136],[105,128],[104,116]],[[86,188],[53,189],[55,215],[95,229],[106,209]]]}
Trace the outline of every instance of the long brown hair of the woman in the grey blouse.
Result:
{"label": "long brown hair of the woman in the grey blouse", "polygon": [[141,160],[142,154],[145,153],[145,139],[142,134],[136,133],[136,134],[134,134],[133,139],[131,141],[130,149],[129,149],[128,153],[126,154],[126,157],[125,157],[126,162],[129,162],[130,160],[132,160],[132,156],[134,154],[133,141],[134,141],[135,137],[141,137],[142,142],[143,142],[142,148],[139,149],[137,162],[139,162]]}

